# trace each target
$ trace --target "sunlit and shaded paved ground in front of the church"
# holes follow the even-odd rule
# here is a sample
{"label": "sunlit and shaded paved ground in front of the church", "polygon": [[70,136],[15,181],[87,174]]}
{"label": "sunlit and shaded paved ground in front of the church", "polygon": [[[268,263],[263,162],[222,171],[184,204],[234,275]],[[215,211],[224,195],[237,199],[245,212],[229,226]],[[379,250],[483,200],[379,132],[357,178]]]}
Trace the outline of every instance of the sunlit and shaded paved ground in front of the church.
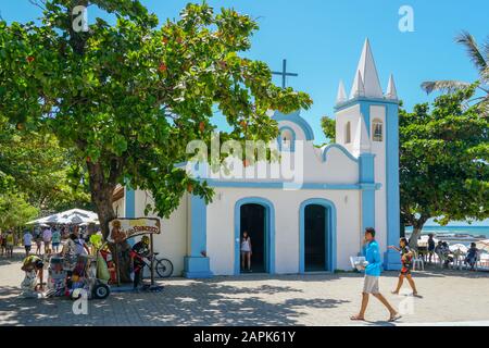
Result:
{"label": "sunlit and shaded paved ground in front of the church", "polygon": [[[113,294],[89,301],[88,314],[75,315],[67,299],[20,298],[20,260],[0,258],[0,325],[388,325],[388,313],[374,298],[368,322],[349,320],[360,306],[359,274],[174,278],[163,282],[163,293]],[[423,298],[391,295],[397,274],[384,275],[383,293],[404,312],[399,325],[489,324],[488,273],[415,273]]]}

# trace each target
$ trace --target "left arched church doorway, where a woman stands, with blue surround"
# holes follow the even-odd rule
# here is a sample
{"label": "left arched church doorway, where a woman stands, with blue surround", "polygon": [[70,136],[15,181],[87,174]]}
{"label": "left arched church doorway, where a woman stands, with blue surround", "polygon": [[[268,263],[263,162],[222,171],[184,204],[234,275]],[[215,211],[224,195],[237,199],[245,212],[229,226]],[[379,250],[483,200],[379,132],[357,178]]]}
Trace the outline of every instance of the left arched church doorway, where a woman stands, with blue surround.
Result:
{"label": "left arched church doorway, where a woman stands, with blue surround", "polygon": [[235,207],[235,274],[241,274],[240,241],[247,231],[253,249],[253,273],[275,271],[275,213],[272,202],[263,198],[244,198]]}

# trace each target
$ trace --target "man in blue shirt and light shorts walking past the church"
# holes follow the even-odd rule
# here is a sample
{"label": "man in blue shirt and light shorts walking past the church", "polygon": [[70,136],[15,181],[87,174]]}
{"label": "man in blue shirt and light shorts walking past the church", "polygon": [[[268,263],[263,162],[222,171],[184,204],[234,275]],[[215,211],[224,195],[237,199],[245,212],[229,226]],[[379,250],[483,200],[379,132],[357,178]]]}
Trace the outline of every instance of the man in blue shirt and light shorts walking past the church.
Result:
{"label": "man in blue shirt and light shorts walking past the church", "polygon": [[364,321],[365,311],[368,306],[368,298],[372,294],[377,298],[389,311],[389,322],[394,322],[401,318],[401,315],[392,308],[387,299],[380,294],[378,287],[378,281],[381,273],[381,259],[380,250],[377,241],[375,240],[375,229],[373,227],[365,228],[365,240],[363,247],[363,254],[366,260],[365,278],[363,283],[362,293],[362,307],[360,313],[351,316],[354,321]]}

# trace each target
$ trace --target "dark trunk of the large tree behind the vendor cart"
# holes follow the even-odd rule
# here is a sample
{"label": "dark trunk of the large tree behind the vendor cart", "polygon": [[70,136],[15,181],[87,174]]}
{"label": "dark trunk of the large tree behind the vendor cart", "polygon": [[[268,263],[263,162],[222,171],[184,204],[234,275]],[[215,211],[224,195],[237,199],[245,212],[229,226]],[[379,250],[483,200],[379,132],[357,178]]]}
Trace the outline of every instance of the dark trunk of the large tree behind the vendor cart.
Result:
{"label": "dark trunk of the large tree behind the vendor cart", "polygon": [[[105,181],[103,169],[100,163],[87,162],[88,174],[90,176],[90,191],[91,200],[96,207],[97,214],[99,215],[100,227],[102,229],[103,239],[106,240],[109,236],[109,223],[116,216],[114,208],[112,206],[112,196],[115,189],[114,183],[111,179]],[[115,245],[110,245],[114,261],[118,269],[121,283],[130,283],[130,246],[127,241]]]}

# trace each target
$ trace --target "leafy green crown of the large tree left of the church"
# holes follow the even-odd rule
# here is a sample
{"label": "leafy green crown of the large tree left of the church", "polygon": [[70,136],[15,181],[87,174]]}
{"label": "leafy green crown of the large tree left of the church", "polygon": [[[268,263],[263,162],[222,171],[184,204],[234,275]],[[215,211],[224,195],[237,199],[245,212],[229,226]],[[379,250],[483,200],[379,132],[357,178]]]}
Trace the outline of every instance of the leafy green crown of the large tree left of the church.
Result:
{"label": "leafy green crown of the large tree left of the church", "polygon": [[[97,17],[78,32],[75,5],[98,7],[116,24]],[[0,22],[0,114],[76,150],[105,236],[117,184],[151,191],[160,216],[186,191],[211,199],[205,183],[174,164],[189,159],[189,141],[210,141],[216,109],[233,128],[223,140],[271,140],[278,129],[268,110],[311,103],[273,85],[266,64],[239,55],[258,25],[234,10],[188,4],[159,26],[133,0],[47,0],[43,8],[41,24]]]}

